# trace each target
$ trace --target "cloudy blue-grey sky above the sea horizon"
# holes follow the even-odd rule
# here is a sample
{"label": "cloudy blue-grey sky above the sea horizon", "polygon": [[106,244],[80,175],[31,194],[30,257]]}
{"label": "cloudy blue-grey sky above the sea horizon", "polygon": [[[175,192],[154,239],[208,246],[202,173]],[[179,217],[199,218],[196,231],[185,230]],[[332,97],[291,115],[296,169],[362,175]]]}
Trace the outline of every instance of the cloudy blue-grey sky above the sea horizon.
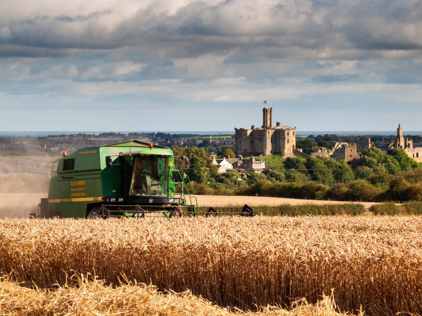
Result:
{"label": "cloudy blue-grey sky above the sea horizon", "polygon": [[0,131],[406,134],[421,105],[421,0],[0,0]]}

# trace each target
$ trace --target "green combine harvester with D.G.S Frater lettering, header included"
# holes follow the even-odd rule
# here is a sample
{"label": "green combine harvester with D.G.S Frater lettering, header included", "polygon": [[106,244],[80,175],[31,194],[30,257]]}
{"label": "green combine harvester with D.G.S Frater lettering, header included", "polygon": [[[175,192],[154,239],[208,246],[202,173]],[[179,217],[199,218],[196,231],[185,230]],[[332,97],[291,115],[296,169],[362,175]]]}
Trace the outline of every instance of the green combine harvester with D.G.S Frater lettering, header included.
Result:
{"label": "green combine harvester with D.G.S Frater lettering, header included", "polygon": [[[186,157],[137,140],[76,150],[54,161],[49,197],[33,217],[253,216],[249,206],[198,207]],[[218,209],[218,211],[217,211]]]}

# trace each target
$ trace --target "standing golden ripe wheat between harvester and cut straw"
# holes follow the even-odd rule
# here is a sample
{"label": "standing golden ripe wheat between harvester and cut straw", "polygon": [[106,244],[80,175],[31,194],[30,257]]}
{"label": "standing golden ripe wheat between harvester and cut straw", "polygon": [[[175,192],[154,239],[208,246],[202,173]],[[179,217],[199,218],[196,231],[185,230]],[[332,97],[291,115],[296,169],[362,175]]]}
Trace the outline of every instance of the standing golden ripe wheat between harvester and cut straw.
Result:
{"label": "standing golden ripe wheat between harvester and cut straw", "polygon": [[242,310],[315,304],[422,314],[421,217],[0,220],[0,273],[57,288],[90,273]]}

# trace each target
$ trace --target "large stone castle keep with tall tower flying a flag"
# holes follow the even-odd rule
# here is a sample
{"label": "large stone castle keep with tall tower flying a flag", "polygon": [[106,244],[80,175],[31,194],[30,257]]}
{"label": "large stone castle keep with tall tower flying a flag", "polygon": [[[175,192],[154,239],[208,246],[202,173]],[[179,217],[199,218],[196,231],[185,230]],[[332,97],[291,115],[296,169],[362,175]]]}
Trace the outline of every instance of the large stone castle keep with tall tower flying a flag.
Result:
{"label": "large stone castle keep with tall tower flying a flag", "polygon": [[274,155],[294,157],[296,147],[296,127],[281,126],[280,122],[273,127],[273,108],[262,109],[262,127],[251,129],[235,128],[236,156]]}

